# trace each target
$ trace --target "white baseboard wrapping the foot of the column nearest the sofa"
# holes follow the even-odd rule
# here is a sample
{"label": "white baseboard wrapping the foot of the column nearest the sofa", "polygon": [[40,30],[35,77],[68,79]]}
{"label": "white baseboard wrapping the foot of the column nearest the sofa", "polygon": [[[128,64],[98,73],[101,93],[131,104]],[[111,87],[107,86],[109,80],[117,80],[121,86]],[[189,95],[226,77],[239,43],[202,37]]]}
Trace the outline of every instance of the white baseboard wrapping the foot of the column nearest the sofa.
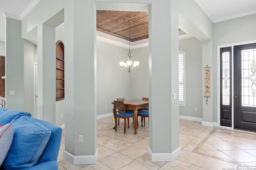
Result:
{"label": "white baseboard wrapping the foot of the column nearest the sofa", "polygon": [[73,165],[96,164],[98,157],[98,148],[95,155],[86,156],[73,156],[72,154],[64,151],[64,159]]}

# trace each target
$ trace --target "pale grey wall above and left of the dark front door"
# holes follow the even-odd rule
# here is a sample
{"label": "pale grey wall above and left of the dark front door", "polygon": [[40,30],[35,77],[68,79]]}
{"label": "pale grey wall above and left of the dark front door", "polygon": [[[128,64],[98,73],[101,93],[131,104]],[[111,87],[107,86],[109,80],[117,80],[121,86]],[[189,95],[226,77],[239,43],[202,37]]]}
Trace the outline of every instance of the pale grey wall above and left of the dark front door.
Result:
{"label": "pale grey wall above and left of the dark front door", "polygon": [[213,113],[217,121],[217,46],[256,41],[256,14],[214,23],[213,29]]}

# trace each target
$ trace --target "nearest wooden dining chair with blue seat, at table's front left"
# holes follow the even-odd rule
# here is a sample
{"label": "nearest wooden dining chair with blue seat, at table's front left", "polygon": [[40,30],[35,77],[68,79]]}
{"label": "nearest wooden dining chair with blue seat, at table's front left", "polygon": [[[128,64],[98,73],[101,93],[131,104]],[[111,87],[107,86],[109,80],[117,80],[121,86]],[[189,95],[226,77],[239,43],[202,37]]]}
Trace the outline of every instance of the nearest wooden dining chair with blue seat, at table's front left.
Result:
{"label": "nearest wooden dining chair with blue seat, at table's front left", "polygon": [[[117,129],[117,118],[124,119],[124,133],[126,133],[126,119],[128,120],[128,128],[129,128],[129,118],[134,117],[133,112],[126,112],[124,109],[124,101],[114,101],[114,112],[116,114],[116,128]],[[119,124],[118,124],[119,125]]]}

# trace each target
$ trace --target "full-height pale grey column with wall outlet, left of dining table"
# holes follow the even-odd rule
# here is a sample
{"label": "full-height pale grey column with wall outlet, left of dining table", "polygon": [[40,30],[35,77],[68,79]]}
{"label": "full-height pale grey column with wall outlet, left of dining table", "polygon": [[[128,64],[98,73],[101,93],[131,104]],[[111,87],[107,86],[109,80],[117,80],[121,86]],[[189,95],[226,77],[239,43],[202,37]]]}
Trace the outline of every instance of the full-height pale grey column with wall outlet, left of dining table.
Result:
{"label": "full-height pale grey column with wall outlet, left of dining table", "polygon": [[96,9],[93,0],[65,0],[64,9],[64,158],[72,164],[96,164]]}

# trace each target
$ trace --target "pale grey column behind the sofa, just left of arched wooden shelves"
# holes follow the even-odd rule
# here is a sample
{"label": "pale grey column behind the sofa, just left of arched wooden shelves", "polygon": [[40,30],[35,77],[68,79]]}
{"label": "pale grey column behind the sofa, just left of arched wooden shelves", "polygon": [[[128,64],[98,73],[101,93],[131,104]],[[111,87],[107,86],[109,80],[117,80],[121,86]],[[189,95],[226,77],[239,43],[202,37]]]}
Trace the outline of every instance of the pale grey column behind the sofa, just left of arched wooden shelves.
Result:
{"label": "pale grey column behind the sofa, just left of arched wooden shelves", "polygon": [[55,27],[39,24],[38,31],[38,107],[37,118],[56,122]]}

